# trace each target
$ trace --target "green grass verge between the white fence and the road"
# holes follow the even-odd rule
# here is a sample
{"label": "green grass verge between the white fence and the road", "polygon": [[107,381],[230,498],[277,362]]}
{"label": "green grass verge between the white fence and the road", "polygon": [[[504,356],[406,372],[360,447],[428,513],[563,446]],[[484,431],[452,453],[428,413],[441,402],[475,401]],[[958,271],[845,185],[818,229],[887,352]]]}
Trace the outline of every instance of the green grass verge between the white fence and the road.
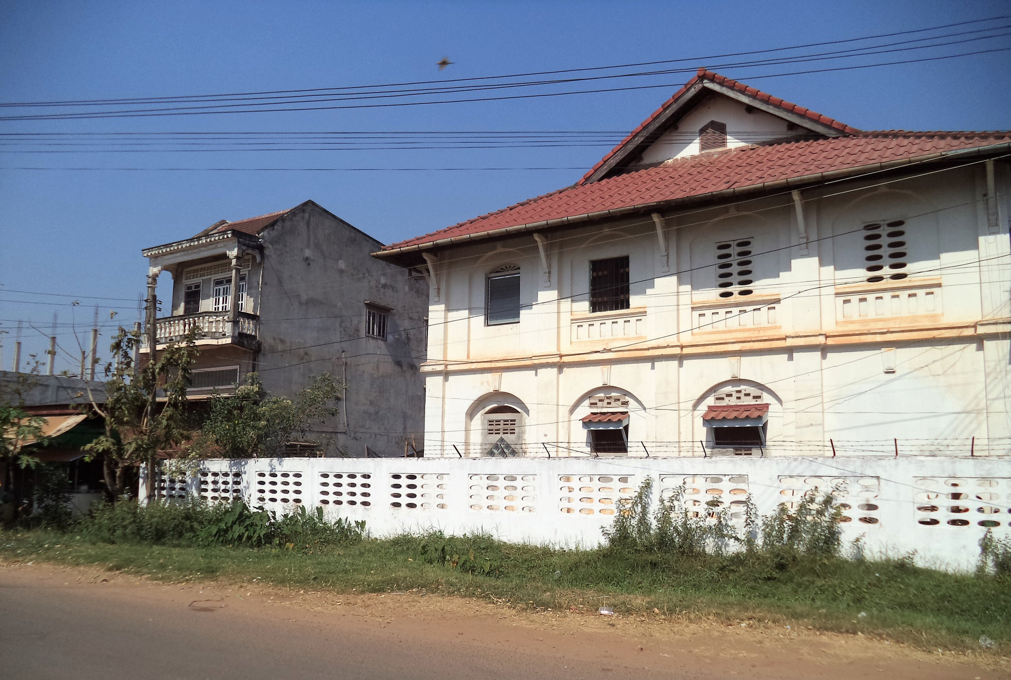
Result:
{"label": "green grass verge between the white fence and the road", "polygon": [[[490,537],[397,537],[243,548],[101,543],[74,532],[0,531],[5,561],[101,565],[167,582],[254,581],[339,592],[417,590],[519,608],[810,625],[920,648],[1011,651],[1011,583],[908,561],[815,556],[636,554],[517,546]],[[861,614],[862,612],[862,614]]]}

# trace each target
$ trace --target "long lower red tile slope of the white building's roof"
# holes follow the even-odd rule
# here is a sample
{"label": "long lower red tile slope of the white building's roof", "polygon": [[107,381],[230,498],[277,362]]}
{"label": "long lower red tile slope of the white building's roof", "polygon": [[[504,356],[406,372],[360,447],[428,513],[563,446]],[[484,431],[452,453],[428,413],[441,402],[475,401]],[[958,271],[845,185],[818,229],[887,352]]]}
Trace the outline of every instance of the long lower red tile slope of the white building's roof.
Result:
{"label": "long lower red tile slope of the white building's roof", "polygon": [[[631,212],[654,204],[731,196],[813,182],[824,173],[875,170],[940,155],[1011,143],[1011,132],[909,132],[886,130],[838,137],[737,147],[667,161],[662,165],[574,185],[502,210],[387,246],[385,251],[468,240],[498,229],[521,231],[564,225],[608,211]],[[822,178],[825,179],[825,178]],[[549,220],[560,220],[548,223]],[[508,232],[508,231],[507,231]],[[448,245],[451,241],[444,241]]]}

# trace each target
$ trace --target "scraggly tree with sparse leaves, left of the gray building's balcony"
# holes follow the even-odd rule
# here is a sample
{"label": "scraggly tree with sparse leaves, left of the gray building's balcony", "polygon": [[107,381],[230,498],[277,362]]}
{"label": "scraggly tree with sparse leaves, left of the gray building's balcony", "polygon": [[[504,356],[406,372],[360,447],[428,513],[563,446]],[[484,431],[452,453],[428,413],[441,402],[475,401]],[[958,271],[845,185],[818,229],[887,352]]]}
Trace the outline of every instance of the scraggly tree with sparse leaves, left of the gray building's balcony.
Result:
{"label": "scraggly tree with sparse leaves, left of the gray building's balcony", "polygon": [[[162,350],[155,362],[133,366],[140,347],[136,330],[122,326],[112,338],[112,361],[105,366],[106,399],[95,410],[105,418],[105,431],[85,447],[90,455],[103,457],[105,488],[113,500],[125,491],[125,470],[143,463],[148,466],[148,500],[155,497],[158,452],[169,451],[190,436],[186,422],[186,388],[190,367],[197,357],[196,328],[181,343]],[[139,368],[139,370],[134,370]]]}

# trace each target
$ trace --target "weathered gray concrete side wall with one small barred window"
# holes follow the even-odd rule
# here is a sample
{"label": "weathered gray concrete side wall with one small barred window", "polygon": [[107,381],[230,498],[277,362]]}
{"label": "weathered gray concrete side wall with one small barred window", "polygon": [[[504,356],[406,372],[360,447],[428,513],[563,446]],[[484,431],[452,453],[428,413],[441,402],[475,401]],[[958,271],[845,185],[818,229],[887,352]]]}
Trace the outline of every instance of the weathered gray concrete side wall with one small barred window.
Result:
{"label": "weathered gray concrete side wall with one small barred window", "polygon": [[[314,429],[328,455],[402,456],[423,446],[428,285],[370,257],[381,244],[306,204],[262,234],[260,345],[264,387],[294,396],[314,375],[347,384],[342,413]],[[365,336],[366,306],[389,308],[387,338]]]}

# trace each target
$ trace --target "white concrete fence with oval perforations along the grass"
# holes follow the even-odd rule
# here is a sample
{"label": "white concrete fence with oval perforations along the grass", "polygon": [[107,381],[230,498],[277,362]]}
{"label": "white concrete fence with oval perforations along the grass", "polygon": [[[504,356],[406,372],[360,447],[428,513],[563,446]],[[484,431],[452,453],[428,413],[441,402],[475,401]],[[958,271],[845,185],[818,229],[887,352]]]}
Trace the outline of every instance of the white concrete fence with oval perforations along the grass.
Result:
{"label": "white concrete fence with oval perforations along the grass", "polygon": [[705,516],[744,520],[788,507],[810,489],[835,489],[846,542],[864,554],[969,570],[987,528],[1011,537],[1008,458],[333,459],[207,461],[189,476],[159,473],[162,499],[245,500],[278,512],[323,507],[364,519],[372,536],[437,528],[504,541],[594,546],[646,478],[654,502],[680,490]]}

